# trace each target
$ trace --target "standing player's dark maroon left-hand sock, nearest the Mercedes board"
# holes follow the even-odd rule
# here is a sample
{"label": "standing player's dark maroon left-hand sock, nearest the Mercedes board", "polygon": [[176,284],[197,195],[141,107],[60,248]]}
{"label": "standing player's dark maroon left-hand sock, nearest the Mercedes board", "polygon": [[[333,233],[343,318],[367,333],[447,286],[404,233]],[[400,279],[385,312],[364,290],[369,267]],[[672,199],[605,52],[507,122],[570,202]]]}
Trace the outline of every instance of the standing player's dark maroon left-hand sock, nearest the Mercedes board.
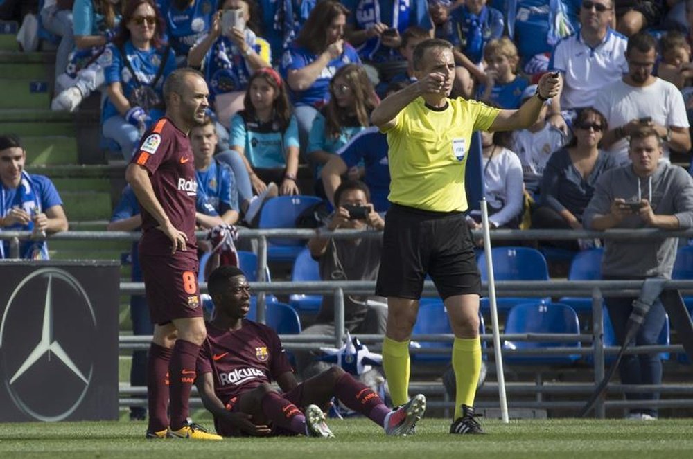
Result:
{"label": "standing player's dark maroon left-hand sock, nearest the Mercedes board", "polygon": [[168,428],[168,361],[172,350],[152,343],[147,359],[147,395],[150,432]]}

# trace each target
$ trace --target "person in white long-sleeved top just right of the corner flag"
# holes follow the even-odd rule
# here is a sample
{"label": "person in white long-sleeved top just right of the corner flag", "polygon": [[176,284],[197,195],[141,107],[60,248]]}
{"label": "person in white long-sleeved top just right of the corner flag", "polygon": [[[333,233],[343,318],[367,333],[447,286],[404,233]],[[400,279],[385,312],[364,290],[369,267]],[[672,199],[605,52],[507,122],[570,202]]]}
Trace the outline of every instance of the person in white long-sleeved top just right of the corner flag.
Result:
{"label": "person in white long-sleeved top just right of the corner flag", "polygon": [[[489,203],[491,229],[518,229],[523,210],[522,164],[516,154],[496,138],[502,133],[481,132],[484,166],[484,197]],[[471,229],[481,228],[481,212],[471,211]]]}

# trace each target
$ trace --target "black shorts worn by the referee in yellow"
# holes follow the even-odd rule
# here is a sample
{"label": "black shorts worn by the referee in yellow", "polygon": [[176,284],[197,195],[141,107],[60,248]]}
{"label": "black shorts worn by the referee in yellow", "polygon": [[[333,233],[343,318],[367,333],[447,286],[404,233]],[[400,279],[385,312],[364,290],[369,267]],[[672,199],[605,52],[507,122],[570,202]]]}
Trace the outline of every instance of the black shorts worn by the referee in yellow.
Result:
{"label": "black shorts worn by the referee in yellow", "polygon": [[444,300],[480,294],[481,276],[464,214],[392,204],[385,215],[376,294],[418,300],[426,274]]}

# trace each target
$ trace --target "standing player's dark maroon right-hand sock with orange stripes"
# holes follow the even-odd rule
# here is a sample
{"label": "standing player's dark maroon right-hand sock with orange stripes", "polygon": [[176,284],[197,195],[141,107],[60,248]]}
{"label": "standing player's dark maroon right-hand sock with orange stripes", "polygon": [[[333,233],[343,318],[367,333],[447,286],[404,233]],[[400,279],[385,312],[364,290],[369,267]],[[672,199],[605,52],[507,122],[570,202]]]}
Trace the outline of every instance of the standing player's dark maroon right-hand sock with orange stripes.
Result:
{"label": "standing player's dark maroon right-hand sock with orange stripes", "polygon": [[171,430],[177,431],[186,425],[190,390],[195,382],[195,364],[200,346],[177,339],[173,346],[170,375]]}

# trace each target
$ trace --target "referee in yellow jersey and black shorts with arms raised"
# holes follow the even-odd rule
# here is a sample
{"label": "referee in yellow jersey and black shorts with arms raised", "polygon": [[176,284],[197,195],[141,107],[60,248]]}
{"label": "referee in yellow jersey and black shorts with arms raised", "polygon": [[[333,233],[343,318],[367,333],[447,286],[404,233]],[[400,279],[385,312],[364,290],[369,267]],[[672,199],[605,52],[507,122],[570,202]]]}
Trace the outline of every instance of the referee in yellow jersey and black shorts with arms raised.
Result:
{"label": "referee in yellow jersey and black shorts with arms raised", "polygon": [[419,312],[423,280],[430,275],[443,298],[455,343],[455,421],[450,433],[484,433],[474,415],[481,368],[481,280],[464,211],[464,168],[474,131],[524,129],[561,82],[547,73],[536,96],[518,110],[450,99],[455,79],[453,46],[428,39],[414,49],[418,81],[385,98],[371,121],[387,134],[392,181],[385,217],[376,294],[386,296],[383,367],[396,405],[409,399],[409,341]]}

